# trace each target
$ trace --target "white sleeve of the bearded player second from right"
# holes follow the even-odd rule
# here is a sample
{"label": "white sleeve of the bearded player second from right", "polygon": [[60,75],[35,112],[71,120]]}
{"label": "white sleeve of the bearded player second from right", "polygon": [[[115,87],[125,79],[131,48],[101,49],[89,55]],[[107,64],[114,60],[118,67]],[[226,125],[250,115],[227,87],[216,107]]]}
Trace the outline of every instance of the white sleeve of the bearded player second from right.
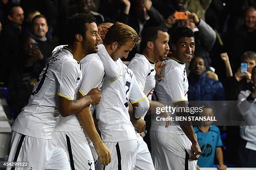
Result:
{"label": "white sleeve of the bearded player second from right", "polygon": [[133,74],[136,76],[138,85],[141,87],[141,90],[144,91],[147,77],[147,69],[145,63],[133,60],[129,64],[128,68],[133,71]]}

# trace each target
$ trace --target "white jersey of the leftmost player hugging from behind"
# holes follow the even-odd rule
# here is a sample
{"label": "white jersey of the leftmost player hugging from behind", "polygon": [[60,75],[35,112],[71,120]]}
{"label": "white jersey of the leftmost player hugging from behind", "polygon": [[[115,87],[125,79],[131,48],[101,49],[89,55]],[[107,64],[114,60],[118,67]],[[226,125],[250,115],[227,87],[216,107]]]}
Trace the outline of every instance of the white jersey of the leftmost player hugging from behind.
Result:
{"label": "white jersey of the leftmost player hugging from behind", "polygon": [[58,96],[74,100],[80,79],[80,62],[73,58],[72,51],[65,46],[56,47],[12,130],[31,137],[52,139],[59,118]]}

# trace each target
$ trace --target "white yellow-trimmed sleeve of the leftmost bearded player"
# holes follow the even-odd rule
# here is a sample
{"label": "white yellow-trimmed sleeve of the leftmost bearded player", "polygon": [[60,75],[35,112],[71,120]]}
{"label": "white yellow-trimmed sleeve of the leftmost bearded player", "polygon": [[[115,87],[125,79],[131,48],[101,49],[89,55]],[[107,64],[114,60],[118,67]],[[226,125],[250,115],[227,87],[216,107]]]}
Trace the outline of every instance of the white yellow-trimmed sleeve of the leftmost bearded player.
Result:
{"label": "white yellow-trimmed sleeve of the leftmost bearded player", "polygon": [[79,70],[73,62],[62,63],[57,86],[57,95],[68,100],[74,100],[76,81],[78,77]]}

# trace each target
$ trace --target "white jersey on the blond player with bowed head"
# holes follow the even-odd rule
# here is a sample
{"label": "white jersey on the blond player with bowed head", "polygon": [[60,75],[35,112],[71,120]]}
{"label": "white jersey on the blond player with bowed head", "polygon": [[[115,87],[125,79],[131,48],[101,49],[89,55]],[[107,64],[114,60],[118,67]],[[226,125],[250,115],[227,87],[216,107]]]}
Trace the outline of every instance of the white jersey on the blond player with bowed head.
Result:
{"label": "white jersey on the blond player with bowed head", "polygon": [[101,87],[102,99],[96,105],[96,118],[103,142],[137,140],[128,113],[128,99],[132,104],[147,99],[138,87],[133,71],[120,59],[116,63],[118,79],[111,82],[108,76],[105,77]]}

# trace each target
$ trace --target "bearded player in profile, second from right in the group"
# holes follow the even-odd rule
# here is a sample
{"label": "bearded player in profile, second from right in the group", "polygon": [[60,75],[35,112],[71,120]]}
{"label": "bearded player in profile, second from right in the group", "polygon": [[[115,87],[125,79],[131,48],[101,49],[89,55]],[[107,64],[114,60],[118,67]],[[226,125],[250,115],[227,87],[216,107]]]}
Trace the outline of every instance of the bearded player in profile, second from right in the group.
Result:
{"label": "bearded player in profile, second from right in the group", "polygon": [[[148,97],[150,103],[150,110],[156,107],[164,107],[163,104],[157,101],[151,101],[152,94],[156,85],[155,63],[157,61],[164,61],[169,53],[169,35],[166,31],[157,27],[145,28],[142,32],[142,42],[140,44],[142,54],[135,54],[131,60],[128,68],[133,71],[136,76],[138,85],[141,90]],[[165,114],[167,114],[165,112]],[[168,114],[167,114],[168,116]],[[166,127],[169,126],[169,121],[166,121]],[[154,165],[148,146],[139,133],[138,149],[136,153],[135,170],[154,170]]]}

